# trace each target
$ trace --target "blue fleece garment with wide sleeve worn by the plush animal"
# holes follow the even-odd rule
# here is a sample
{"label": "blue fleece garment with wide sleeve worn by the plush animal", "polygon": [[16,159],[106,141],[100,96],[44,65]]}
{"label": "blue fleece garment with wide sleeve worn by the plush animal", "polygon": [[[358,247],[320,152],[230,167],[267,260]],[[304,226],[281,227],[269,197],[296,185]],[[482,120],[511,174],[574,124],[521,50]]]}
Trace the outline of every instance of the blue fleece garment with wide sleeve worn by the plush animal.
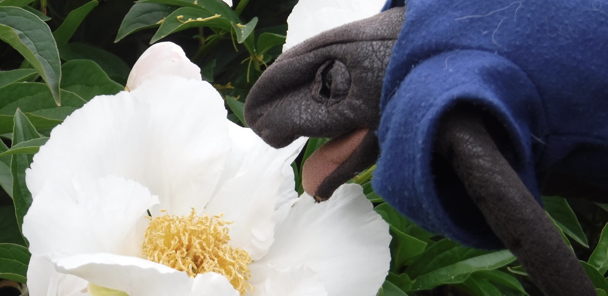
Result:
{"label": "blue fleece garment with wide sleeve worn by the plush animal", "polygon": [[608,2],[407,1],[382,90],[373,187],[427,230],[502,247],[432,157],[441,116],[457,105],[500,123],[510,139],[500,149],[537,200],[537,176],[550,170],[608,187]]}

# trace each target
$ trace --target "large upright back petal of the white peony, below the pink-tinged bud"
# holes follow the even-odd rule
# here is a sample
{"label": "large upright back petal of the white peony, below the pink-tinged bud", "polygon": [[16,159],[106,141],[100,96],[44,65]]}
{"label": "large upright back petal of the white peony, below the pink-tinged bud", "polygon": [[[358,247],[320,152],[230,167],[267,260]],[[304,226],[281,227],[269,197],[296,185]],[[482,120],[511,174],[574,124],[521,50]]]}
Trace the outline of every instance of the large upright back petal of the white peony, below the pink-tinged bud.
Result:
{"label": "large upright back petal of the white peony, below the pink-tinged bud", "polygon": [[188,215],[211,197],[229,149],[226,109],[209,83],[155,78],[95,97],[54,128],[26,171],[27,187],[36,199],[44,182],[113,174],[159,196],[153,215]]}

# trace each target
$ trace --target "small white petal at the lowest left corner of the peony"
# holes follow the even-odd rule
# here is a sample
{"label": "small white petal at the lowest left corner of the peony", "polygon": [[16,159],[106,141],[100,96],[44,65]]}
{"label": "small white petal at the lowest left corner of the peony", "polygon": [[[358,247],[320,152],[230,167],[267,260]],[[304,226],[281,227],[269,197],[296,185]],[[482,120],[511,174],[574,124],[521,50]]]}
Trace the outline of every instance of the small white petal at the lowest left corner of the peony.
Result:
{"label": "small white petal at the lowest left corner of the peony", "polygon": [[27,269],[27,289],[38,295],[85,295],[88,281],[74,275],[60,274],[55,266],[42,256],[32,255]]}

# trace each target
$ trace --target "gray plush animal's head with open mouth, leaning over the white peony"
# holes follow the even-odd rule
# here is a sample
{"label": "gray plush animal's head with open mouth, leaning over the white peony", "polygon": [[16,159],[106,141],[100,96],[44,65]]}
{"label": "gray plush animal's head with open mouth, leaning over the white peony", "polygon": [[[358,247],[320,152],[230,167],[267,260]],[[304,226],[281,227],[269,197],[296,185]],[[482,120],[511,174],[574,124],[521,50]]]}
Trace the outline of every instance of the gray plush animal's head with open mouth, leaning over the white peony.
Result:
{"label": "gray plush animal's head with open mouth, leaning over the white peony", "polygon": [[280,55],[247,96],[247,125],[275,148],[334,138],[303,168],[317,201],[378,157],[382,79],[403,21],[400,7],[314,36]]}

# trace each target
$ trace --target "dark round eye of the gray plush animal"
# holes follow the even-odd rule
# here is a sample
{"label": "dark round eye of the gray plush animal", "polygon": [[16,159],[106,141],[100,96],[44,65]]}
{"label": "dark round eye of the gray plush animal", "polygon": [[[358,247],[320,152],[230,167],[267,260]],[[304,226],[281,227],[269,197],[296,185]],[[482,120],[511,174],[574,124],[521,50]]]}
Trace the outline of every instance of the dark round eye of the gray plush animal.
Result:
{"label": "dark round eye of the gray plush animal", "polygon": [[326,61],[317,71],[313,97],[322,103],[337,103],[348,95],[350,73],[341,61]]}

